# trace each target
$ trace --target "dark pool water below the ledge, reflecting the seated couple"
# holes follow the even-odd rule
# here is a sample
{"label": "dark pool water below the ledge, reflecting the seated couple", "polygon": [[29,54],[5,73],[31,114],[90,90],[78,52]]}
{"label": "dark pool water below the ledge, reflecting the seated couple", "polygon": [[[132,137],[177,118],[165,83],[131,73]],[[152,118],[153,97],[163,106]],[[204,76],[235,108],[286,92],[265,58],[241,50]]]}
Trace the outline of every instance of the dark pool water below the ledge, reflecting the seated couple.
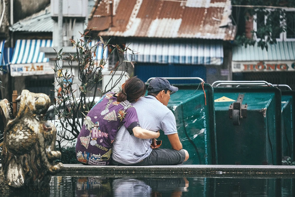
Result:
{"label": "dark pool water below the ledge, reflecting the seated couple", "polygon": [[[294,196],[294,179],[53,177],[50,196]],[[46,196],[43,194],[43,197]]]}

